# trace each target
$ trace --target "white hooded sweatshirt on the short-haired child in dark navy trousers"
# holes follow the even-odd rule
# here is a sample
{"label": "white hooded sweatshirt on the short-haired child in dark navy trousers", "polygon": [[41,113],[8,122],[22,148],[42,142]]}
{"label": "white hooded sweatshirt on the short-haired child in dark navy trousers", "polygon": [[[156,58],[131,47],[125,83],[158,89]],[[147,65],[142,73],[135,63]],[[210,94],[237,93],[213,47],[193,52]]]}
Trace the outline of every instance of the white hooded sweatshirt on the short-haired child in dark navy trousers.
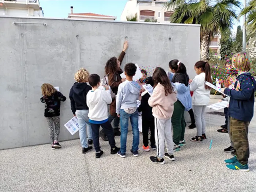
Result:
{"label": "white hooded sweatshirt on the short-haired child in dark navy trousers", "polygon": [[93,121],[108,119],[108,104],[112,102],[111,95],[104,90],[90,90],[86,96],[86,104],[89,107],[88,117]]}

